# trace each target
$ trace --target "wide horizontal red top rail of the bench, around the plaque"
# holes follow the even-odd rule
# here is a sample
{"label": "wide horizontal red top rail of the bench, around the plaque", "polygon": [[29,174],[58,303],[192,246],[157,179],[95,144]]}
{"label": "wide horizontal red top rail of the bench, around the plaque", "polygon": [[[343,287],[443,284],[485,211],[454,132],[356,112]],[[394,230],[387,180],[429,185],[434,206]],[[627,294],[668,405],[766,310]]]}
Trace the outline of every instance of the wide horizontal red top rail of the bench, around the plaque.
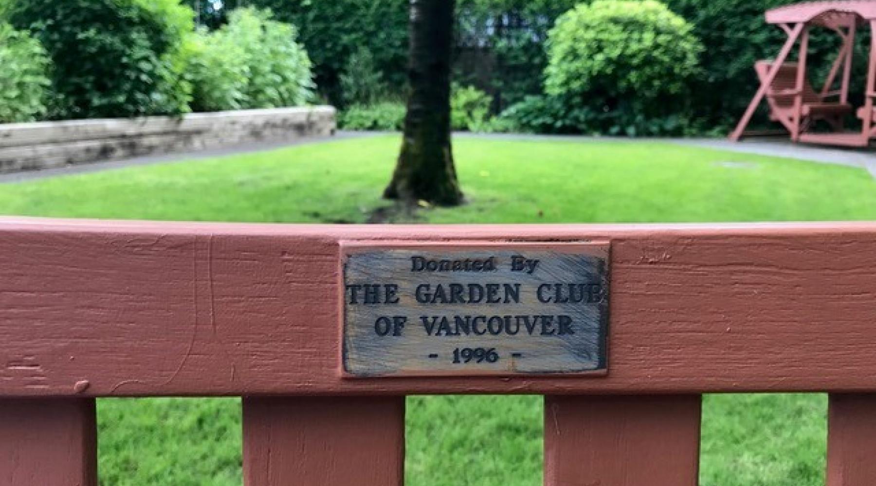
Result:
{"label": "wide horizontal red top rail of the bench, around the plaque", "polygon": [[[611,240],[608,376],[342,378],[342,240]],[[876,223],[5,219],[0,396],[873,392],[874,275]]]}

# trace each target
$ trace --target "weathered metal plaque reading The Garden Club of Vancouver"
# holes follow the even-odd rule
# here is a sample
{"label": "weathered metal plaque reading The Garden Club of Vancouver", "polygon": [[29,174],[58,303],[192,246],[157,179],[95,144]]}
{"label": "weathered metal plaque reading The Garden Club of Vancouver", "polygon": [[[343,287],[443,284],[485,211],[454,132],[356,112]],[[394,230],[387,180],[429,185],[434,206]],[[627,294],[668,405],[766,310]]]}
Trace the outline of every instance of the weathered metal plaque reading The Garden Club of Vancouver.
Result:
{"label": "weathered metal plaque reading The Garden Club of Vancouver", "polygon": [[604,374],[607,243],[343,245],[350,377]]}

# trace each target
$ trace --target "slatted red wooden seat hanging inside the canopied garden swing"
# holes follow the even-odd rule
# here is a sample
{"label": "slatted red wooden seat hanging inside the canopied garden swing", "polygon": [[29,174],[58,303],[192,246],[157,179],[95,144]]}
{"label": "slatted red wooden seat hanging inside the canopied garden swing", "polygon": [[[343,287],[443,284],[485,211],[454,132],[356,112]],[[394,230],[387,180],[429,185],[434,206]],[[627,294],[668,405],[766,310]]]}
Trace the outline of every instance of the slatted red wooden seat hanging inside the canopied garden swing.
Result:
{"label": "slatted red wooden seat hanging inside the canopied garden swing", "polygon": [[[760,82],[766,82],[770,69],[773,66],[772,60],[759,60],[754,64],[754,69],[758,73]],[[767,102],[770,107],[770,120],[779,121],[782,125],[791,131],[795,114],[795,101],[798,91],[795,89],[797,84],[797,64],[787,62],[779,66],[779,72],[767,90]],[[817,94],[809,80],[803,81],[802,88],[802,103],[801,115],[804,118],[803,126],[810,126],[812,122],[817,120],[825,120],[831,125],[838,125],[839,121],[852,112],[852,107],[848,103],[838,103],[827,101],[830,96],[837,94]]]}

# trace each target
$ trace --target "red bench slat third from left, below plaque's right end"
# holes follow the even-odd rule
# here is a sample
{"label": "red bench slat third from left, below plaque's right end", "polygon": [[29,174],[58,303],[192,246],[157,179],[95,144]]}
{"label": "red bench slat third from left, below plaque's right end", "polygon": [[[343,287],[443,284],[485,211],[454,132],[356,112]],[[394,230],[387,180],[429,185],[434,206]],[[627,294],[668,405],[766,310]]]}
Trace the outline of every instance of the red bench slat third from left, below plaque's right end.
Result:
{"label": "red bench slat third from left, below plaque's right end", "polygon": [[545,398],[546,486],[696,486],[699,395]]}

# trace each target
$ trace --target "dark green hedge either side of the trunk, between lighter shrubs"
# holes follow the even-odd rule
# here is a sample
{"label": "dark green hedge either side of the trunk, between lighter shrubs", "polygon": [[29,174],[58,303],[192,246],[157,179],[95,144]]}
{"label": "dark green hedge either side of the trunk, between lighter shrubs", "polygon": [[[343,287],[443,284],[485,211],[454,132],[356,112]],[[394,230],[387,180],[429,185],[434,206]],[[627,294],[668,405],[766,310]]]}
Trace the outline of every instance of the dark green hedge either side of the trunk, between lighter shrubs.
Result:
{"label": "dark green hedge either side of the trunk, between lighter shrubs", "polygon": [[[406,85],[405,0],[250,0],[299,26],[321,91],[343,105],[341,75],[361,48],[395,93]],[[459,0],[455,79],[496,99],[494,108],[538,94],[547,64],[543,42],[556,17],[577,0]],[[206,3],[205,3],[206,4]],[[489,70],[484,71],[484,67]]]}

